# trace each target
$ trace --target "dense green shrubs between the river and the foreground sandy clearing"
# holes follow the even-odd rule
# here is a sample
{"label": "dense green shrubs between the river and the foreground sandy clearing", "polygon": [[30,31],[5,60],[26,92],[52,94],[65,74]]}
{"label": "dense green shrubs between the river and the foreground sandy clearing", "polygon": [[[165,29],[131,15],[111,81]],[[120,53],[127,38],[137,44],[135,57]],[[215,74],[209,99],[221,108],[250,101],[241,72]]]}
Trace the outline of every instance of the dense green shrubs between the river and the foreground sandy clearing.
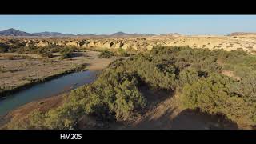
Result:
{"label": "dense green shrubs between the river and the foreground sandy clearing", "polygon": [[73,90],[69,102],[46,114],[30,114],[27,122],[10,122],[13,129],[75,129],[82,115],[106,121],[136,117],[146,99],[138,90],[138,75],[107,70],[93,84]]}

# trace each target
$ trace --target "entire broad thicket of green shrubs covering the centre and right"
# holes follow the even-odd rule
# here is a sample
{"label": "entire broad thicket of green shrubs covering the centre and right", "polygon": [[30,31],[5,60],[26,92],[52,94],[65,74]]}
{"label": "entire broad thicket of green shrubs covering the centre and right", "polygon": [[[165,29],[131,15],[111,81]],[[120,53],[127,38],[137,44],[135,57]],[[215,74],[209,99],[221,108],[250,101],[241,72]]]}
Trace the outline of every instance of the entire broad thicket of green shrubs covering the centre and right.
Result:
{"label": "entire broad thicket of green shrubs covering the centre and right", "polygon": [[[110,51],[102,52],[103,58],[110,55]],[[104,122],[130,122],[150,105],[142,86],[176,91],[187,109],[222,114],[231,121],[255,126],[255,63],[256,57],[243,51],[154,47],[112,62],[94,83],[73,90],[69,101],[58,109],[35,111],[26,122],[13,121],[8,126],[77,129],[83,115]],[[241,80],[222,74],[222,70],[234,71]]]}

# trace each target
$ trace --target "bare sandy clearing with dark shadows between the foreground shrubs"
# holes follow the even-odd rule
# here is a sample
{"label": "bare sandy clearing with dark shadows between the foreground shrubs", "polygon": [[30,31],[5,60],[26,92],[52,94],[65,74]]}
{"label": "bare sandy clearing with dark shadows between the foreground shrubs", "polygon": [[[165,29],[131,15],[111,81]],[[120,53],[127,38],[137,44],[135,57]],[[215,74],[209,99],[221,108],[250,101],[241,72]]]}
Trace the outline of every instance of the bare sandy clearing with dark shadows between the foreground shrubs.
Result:
{"label": "bare sandy clearing with dark shadows between the foreground shrubs", "polygon": [[141,117],[128,125],[110,124],[118,130],[237,130],[251,129],[238,126],[220,115],[204,114],[198,110],[182,108],[178,94],[164,91],[142,90],[150,106]]}

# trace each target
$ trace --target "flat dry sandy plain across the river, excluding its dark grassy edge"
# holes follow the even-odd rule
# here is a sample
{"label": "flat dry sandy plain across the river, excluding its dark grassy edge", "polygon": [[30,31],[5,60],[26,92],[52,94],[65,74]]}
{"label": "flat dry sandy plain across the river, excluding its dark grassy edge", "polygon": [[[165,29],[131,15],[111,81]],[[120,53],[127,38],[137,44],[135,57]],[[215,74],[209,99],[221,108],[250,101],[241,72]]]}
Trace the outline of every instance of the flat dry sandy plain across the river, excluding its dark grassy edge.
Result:
{"label": "flat dry sandy plain across the river, excluding its dark grassy edge", "polygon": [[[2,89],[14,88],[30,83],[34,79],[46,78],[50,75],[60,74],[71,70],[75,66],[87,64],[89,70],[106,68],[116,58],[98,58],[99,52],[76,52],[74,58],[58,60],[55,58],[43,59],[37,54],[1,54],[0,56],[0,87]],[[8,55],[14,55],[14,60],[9,60]],[[15,56],[16,55],[16,56]],[[58,55],[58,54],[55,54]]]}

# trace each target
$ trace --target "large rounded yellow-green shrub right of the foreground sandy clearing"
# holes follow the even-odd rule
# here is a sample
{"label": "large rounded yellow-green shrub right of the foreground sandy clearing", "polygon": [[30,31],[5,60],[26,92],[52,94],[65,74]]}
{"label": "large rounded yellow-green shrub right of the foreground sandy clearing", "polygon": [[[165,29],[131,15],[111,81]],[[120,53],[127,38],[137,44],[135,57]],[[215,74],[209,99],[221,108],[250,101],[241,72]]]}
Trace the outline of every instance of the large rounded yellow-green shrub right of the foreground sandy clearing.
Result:
{"label": "large rounded yellow-green shrub right of the foreground sandy clearing", "polygon": [[230,91],[234,79],[221,74],[211,74],[182,90],[182,102],[186,108],[210,114],[224,114],[234,122],[255,125],[255,105],[249,105],[244,98]]}

